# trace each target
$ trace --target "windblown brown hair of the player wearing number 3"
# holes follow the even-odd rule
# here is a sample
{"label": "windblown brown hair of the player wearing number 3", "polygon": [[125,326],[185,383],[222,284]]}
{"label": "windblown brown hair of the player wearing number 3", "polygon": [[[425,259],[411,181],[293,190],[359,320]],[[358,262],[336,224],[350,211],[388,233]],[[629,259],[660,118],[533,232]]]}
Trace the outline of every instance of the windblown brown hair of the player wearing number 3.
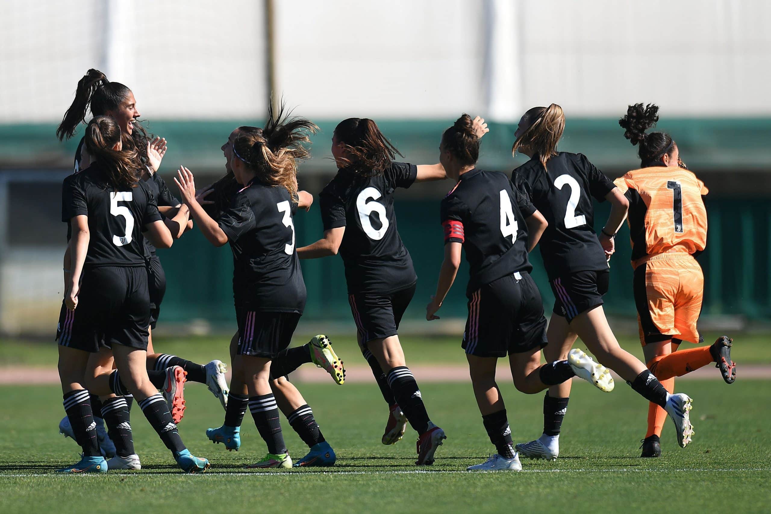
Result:
{"label": "windblown brown hair of the player wearing number 3", "polygon": [[318,126],[308,119],[286,113],[283,104],[278,115],[269,106],[264,128],[245,130],[235,137],[233,156],[254,170],[260,183],[283,186],[296,202],[297,161],[310,158],[302,143],[310,143],[310,134],[316,130]]}

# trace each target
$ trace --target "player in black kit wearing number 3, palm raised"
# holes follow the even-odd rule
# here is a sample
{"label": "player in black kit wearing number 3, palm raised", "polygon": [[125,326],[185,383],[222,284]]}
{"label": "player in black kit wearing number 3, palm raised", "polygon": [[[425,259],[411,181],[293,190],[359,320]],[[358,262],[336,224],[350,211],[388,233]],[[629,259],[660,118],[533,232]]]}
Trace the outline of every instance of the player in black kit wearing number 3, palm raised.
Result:
{"label": "player in black kit wearing number 3, palm raised", "polygon": [[[305,308],[292,217],[298,207],[297,160],[309,155],[301,143],[308,141],[312,129],[315,126],[306,119],[284,119],[283,109],[278,116],[270,109],[264,129],[239,133],[232,143],[231,170],[242,189],[219,221],[200,205],[187,168],[180,170],[179,180],[174,179],[207,240],[217,247],[230,243],[233,250],[239,333],[234,377],[238,375],[248,391],[248,399],[239,402],[244,404],[241,416],[247,404],[268,445],[268,455],[250,466],[254,468],[292,465],[271,391],[270,369],[271,359],[288,347]],[[235,385],[233,389],[238,390]],[[230,412],[226,409],[226,418]],[[228,421],[225,425],[234,426]]]}

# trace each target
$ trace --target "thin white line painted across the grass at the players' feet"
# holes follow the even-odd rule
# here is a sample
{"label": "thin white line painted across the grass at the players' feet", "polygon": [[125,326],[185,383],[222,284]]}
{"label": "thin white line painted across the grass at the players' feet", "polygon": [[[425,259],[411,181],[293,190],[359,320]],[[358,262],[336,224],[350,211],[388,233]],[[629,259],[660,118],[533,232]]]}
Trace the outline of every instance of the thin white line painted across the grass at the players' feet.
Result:
{"label": "thin white line painted across the grass at the players' feet", "polygon": [[[678,473],[678,472],[771,472],[771,468],[719,468],[719,469],[705,469],[705,468],[675,468],[675,469],[629,469],[629,468],[611,468],[611,469],[523,469],[519,473]],[[460,469],[412,469],[404,471],[329,471],[329,472],[289,472],[289,471],[277,471],[277,472],[204,472],[195,473],[187,476],[254,476],[267,478],[271,476],[314,476],[314,475],[442,475],[450,473],[476,473],[468,472]],[[126,472],[126,473],[111,473],[114,475],[120,475],[125,477],[141,477],[142,472]],[[170,476],[175,474],[169,473]],[[72,475],[64,475],[62,473],[0,473],[0,478],[24,478],[24,477],[59,477],[66,478]],[[93,476],[101,477],[101,473],[85,473],[79,476]],[[146,476],[146,475],[145,475]]]}

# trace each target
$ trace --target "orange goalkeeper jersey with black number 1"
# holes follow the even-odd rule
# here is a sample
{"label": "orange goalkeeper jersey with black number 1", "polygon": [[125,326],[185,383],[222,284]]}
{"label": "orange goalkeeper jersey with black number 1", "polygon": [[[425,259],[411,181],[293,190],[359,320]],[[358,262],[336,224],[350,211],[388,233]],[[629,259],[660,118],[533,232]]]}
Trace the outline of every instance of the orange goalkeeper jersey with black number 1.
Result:
{"label": "orange goalkeeper jersey with black number 1", "polygon": [[694,254],[707,244],[704,183],[689,170],[652,166],[614,181],[629,200],[632,263],[648,255]]}

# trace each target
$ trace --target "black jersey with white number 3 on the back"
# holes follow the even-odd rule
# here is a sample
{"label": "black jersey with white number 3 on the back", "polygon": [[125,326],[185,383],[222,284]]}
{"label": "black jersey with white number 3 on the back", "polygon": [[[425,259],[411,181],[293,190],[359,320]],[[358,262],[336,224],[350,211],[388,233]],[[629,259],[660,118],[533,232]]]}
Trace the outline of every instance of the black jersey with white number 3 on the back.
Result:
{"label": "black jersey with white number 3 on the back", "polygon": [[295,247],[297,210],[284,187],[252,180],[219,223],[233,250],[233,296],[247,311],[305,309],[305,282]]}

